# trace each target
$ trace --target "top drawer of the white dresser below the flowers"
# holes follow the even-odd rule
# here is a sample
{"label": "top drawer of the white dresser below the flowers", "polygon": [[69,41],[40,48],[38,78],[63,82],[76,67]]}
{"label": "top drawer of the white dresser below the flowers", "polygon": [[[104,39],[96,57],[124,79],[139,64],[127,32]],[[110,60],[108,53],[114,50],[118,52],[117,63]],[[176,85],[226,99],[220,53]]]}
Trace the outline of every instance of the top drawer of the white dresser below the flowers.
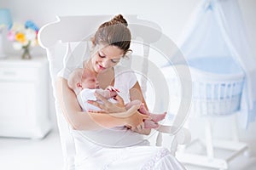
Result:
{"label": "top drawer of the white dresser below the flowers", "polygon": [[0,80],[36,80],[36,68],[0,68]]}

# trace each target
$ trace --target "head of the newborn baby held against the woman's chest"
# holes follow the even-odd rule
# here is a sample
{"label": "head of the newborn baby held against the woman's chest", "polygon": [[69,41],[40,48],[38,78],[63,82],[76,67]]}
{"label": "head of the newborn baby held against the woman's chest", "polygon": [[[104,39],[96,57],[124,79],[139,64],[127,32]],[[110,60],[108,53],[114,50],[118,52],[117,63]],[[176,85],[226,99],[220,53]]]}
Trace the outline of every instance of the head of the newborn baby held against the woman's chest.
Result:
{"label": "head of the newborn baby held against the woman's chest", "polygon": [[79,94],[84,88],[99,88],[99,84],[93,72],[82,68],[76,69],[70,74],[67,84],[69,88],[73,89],[75,94]]}

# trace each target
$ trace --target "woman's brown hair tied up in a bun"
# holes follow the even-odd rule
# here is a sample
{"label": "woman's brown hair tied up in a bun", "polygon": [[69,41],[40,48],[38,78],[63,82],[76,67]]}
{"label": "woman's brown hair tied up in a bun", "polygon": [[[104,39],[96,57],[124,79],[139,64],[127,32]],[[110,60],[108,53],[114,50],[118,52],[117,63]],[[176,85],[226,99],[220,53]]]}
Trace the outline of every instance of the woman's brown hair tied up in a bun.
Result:
{"label": "woman's brown hair tied up in a bun", "polygon": [[112,20],[104,22],[96,31],[92,38],[94,44],[113,45],[122,50],[124,54],[131,51],[131,32],[127,27],[128,23],[123,15],[119,14],[113,17]]}

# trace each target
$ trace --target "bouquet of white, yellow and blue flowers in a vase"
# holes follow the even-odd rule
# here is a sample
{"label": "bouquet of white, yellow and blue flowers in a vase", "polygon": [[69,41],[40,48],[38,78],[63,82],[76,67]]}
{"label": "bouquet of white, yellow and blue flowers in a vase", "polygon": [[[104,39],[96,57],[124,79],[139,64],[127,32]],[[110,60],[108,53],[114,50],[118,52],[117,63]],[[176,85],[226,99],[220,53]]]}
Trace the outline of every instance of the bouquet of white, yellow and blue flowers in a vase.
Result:
{"label": "bouquet of white, yellow and blue flowers in a vase", "polygon": [[31,20],[27,20],[25,25],[14,23],[9,30],[7,37],[13,42],[15,50],[24,49],[22,59],[31,59],[29,48],[38,45],[38,30]]}

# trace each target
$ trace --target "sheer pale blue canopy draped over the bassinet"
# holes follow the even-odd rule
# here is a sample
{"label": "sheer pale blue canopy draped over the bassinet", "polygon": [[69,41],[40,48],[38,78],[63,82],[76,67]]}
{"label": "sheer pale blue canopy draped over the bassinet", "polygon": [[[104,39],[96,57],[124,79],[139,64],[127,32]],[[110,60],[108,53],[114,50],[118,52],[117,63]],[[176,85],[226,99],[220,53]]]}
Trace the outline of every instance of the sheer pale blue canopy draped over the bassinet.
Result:
{"label": "sheer pale blue canopy draped over the bassinet", "polygon": [[[256,62],[237,1],[203,0],[185,28],[178,46],[189,64],[195,65],[195,60],[200,59],[218,58],[221,62],[230,58],[227,65],[239,65],[237,71],[241,69],[245,73],[240,114],[242,125],[247,127],[256,116]],[[223,66],[213,67],[216,67],[215,71],[221,71]]]}

